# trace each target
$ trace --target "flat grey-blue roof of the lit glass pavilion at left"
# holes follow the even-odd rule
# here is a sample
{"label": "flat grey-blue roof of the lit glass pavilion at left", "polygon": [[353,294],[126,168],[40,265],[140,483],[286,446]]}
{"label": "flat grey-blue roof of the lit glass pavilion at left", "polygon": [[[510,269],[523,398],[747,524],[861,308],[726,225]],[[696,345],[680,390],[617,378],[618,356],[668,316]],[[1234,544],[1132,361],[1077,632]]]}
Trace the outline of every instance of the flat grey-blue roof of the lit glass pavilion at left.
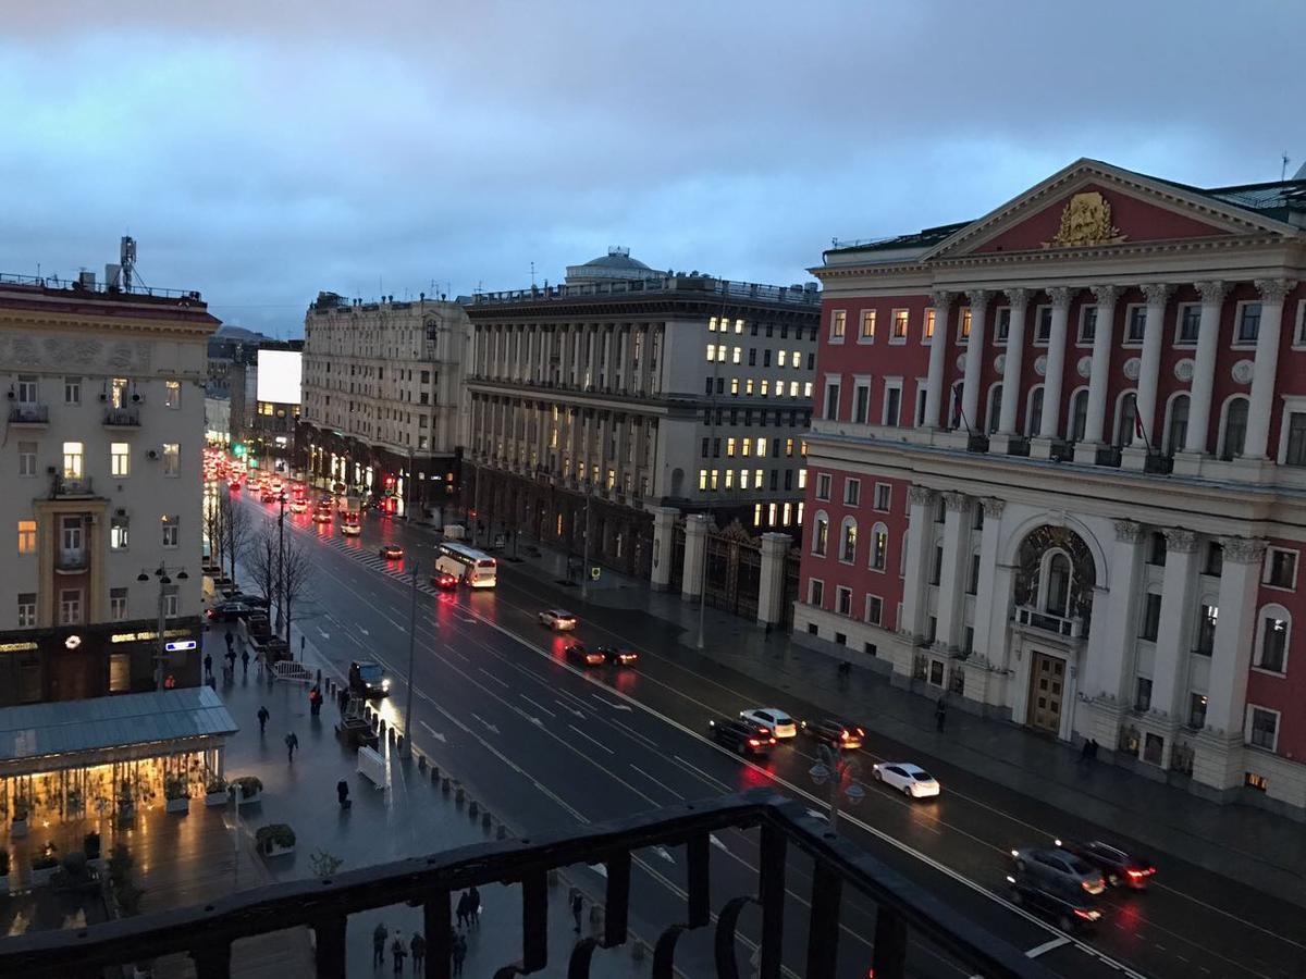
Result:
{"label": "flat grey-blue roof of the lit glass pavilion at left", "polygon": [[235,734],[210,687],[0,709],[0,771],[59,754]]}

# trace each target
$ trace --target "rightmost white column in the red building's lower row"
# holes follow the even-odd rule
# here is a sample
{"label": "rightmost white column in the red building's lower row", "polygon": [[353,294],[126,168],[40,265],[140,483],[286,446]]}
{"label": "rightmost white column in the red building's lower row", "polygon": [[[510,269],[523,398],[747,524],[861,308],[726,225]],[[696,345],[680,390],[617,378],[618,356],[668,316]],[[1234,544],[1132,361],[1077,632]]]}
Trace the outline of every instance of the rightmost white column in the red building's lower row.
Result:
{"label": "rightmost white column in the red building's lower row", "polygon": [[[1266,328],[1262,319],[1260,328]],[[1247,704],[1247,668],[1256,638],[1256,594],[1266,556],[1264,540],[1225,538],[1220,572],[1220,617],[1207,684],[1207,727],[1216,734],[1242,734]]]}

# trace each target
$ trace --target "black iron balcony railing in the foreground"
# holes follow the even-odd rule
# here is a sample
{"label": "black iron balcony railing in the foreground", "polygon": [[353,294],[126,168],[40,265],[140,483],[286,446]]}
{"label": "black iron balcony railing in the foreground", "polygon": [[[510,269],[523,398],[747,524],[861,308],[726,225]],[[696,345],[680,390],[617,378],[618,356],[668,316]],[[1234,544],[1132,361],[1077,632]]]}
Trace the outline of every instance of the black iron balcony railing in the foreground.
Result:
{"label": "black iron balcony railing in the foreground", "polygon": [[687,852],[683,922],[671,924],[653,950],[653,979],[673,976],[679,936],[713,922],[710,906],[710,834],[725,829],[760,831],[756,894],[742,894],[716,914],[714,963],[720,979],[738,979],[735,925],[750,905],[761,909],[760,978],[778,979],[784,954],[785,868],[789,847],[811,858],[806,979],[835,979],[840,909],[845,889],[875,903],[871,963],[876,979],[904,979],[909,936],[956,959],[966,975],[986,979],[1051,979],[1017,948],[862,852],[806,815],[803,807],[769,790],[660,809],[631,818],[559,833],[533,841],[478,843],[426,858],[398,860],[341,873],[326,880],[272,884],[202,907],[159,911],[89,928],[31,932],[0,944],[0,975],[27,979],[98,976],[106,967],[166,954],[188,953],[200,979],[231,975],[231,944],[239,939],[311,928],[316,972],[345,975],[345,932],[351,914],[411,902],[423,907],[427,979],[451,974],[451,893],[473,885],[521,884],[522,935],[517,961],[495,972],[511,979],[549,965],[547,912],[552,869],[602,864],[607,873],[601,937],[579,941],[569,953],[569,979],[589,975],[597,948],[628,940],[633,851],[684,846]]}

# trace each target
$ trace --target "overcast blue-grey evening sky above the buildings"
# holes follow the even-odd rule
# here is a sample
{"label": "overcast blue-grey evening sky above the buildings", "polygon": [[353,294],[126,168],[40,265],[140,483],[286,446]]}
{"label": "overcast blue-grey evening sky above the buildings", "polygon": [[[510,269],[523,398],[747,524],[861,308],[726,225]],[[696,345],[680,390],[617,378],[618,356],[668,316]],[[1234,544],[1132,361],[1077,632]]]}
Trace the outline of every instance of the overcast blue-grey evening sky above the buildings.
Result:
{"label": "overcast blue-grey evening sky above the buildings", "polygon": [[627,245],[791,283],[1079,157],[1306,158],[1298,0],[4,0],[0,270],[103,272],[295,335],[319,290],[558,282]]}

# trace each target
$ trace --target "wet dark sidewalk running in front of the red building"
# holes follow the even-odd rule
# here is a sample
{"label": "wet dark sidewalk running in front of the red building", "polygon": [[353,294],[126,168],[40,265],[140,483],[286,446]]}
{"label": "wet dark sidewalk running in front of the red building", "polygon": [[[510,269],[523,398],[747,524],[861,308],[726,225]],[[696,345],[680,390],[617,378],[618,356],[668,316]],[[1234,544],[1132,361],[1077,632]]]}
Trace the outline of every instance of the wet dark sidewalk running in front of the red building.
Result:
{"label": "wet dark sidewalk running in front of the red building", "polygon": [[[511,550],[508,552],[511,555]],[[533,578],[582,617],[657,649],[675,662],[707,672],[731,670],[776,691],[785,705],[799,697],[832,715],[849,717],[901,745],[922,761],[987,779],[1104,828],[1118,830],[1153,854],[1168,854],[1306,906],[1306,833],[1281,816],[1250,805],[1220,805],[1109,764],[1080,765],[1067,744],[1010,722],[960,709],[948,713],[947,732],[935,731],[934,700],[889,684],[885,675],[857,667],[842,687],[836,660],[793,637],[767,634],[744,619],[704,610],[704,650],[697,650],[699,607],[679,593],[656,593],[648,582],[603,569],[580,586],[560,582],[565,555],[518,551],[502,569],[509,580]],[[639,614],[643,612],[643,616]],[[854,659],[855,663],[855,659]]]}

